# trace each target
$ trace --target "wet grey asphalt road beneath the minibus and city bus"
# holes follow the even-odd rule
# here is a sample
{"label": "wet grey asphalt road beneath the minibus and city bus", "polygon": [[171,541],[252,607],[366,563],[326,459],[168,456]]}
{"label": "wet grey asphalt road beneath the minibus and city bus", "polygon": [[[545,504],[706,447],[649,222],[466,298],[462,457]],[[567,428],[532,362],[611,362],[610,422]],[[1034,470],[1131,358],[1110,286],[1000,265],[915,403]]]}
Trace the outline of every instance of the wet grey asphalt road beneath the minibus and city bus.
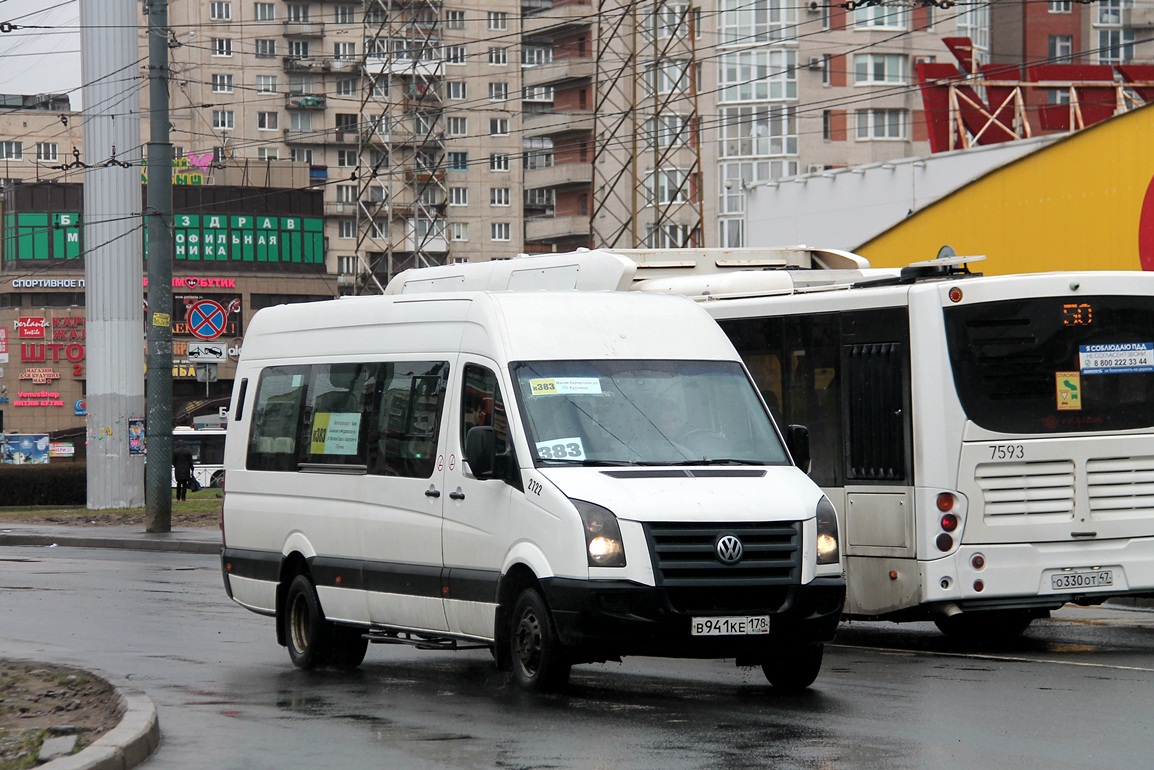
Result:
{"label": "wet grey asphalt road beneath the minibus and city bus", "polygon": [[301,672],[213,556],[0,551],[0,655],[97,668],[157,704],[157,768],[1116,768],[1154,753],[1154,613],[1063,610],[1016,644],[844,625],[815,687],[727,661],[578,666],[534,697],[486,651],[372,646]]}

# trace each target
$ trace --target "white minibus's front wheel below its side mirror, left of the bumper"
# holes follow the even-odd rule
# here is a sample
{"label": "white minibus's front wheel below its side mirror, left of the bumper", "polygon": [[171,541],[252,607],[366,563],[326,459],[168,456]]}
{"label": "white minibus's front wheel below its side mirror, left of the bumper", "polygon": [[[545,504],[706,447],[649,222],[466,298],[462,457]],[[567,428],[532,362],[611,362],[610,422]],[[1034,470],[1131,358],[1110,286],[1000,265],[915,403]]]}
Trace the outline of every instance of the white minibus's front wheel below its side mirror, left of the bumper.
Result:
{"label": "white minibus's front wheel below its side mirror, left of the bumper", "polygon": [[510,618],[509,652],[517,685],[530,693],[562,689],[569,682],[572,664],[540,591],[522,591]]}

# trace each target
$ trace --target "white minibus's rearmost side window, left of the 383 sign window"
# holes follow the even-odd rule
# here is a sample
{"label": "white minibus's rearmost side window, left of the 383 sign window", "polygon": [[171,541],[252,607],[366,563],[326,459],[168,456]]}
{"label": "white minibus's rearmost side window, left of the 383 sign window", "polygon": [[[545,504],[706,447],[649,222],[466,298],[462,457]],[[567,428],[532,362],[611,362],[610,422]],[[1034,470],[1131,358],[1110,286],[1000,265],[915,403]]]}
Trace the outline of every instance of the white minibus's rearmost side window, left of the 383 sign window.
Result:
{"label": "white minibus's rearmost side window, left of the 383 sign window", "polygon": [[246,468],[295,471],[300,455],[300,418],[308,366],[273,366],[261,372],[248,436]]}

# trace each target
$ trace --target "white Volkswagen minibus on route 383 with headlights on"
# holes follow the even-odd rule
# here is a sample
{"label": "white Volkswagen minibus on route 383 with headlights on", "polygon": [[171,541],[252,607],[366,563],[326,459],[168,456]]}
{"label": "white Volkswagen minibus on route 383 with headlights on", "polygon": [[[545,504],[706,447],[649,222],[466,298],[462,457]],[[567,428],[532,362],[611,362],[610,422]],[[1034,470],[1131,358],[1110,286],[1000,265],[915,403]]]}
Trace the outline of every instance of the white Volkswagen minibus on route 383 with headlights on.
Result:
{"label": "white Volkswagen minibus on route 383 with headlights on", "polygon": [[306,668],[384,642],[490,648],[527,690],[630,655],[812,683],[845,598],[837,516],[717,323],[682,297],[421,275],[254,316],[228,596]]}

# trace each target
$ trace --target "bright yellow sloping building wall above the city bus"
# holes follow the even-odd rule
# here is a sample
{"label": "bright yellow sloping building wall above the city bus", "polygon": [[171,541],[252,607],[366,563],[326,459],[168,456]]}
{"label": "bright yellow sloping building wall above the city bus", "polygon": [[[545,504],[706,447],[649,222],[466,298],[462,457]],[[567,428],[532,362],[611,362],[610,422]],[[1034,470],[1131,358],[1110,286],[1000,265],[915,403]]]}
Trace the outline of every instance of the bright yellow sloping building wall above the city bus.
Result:
{"label": "bright yellow sloping building wall above the city bus", "polygon": [[1071,134],[943,197],[856,253],[904,267],[943,245],[987,275],[1154,270],[1154,105]]}

